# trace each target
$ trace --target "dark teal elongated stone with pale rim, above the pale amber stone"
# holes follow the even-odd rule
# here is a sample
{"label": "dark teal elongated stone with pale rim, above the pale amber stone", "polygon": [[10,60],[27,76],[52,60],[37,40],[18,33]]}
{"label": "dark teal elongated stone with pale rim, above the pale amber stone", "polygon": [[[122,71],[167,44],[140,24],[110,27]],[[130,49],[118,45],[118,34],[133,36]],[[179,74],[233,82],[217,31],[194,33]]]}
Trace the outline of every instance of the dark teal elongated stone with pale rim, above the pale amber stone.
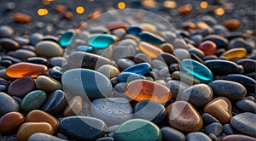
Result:
{"label": "dark teal elongated stone with pale rim, above the pale amber stone", "polygon": [[165,40],[162,37],[154,35],[148,31],[143,31],[139,34],[142,41],[152,43],[152,44],[162,44]]}

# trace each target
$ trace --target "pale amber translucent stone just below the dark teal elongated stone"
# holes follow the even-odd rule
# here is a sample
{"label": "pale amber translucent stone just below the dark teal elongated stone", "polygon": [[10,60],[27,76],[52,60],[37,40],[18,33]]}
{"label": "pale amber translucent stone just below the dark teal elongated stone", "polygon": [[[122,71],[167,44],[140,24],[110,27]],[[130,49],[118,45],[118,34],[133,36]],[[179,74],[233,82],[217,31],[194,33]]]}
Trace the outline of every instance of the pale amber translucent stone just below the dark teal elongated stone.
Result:
{"label": "pale amber translucent stone just below the dark teal elongated stone", "polygon": [[157,58],[159,54],[163,53],[160,48],[157,48],[148,42],[140,42],[139,48],[144,54],[147,54],[149,57],[154,59]]}

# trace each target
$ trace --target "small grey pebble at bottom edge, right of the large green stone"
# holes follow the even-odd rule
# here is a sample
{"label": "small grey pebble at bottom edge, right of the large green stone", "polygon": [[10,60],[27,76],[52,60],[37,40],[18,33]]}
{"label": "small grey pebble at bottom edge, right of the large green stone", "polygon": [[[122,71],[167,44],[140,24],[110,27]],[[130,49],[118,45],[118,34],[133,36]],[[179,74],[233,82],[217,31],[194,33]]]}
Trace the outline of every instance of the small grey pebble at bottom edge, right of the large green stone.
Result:
{"label": "small grey pebble at bottom edge, right of the large green stone", "polygon": [[162,127],[163,140],[166,141],[185,141],[186,137],[183,133],[172,127]]}

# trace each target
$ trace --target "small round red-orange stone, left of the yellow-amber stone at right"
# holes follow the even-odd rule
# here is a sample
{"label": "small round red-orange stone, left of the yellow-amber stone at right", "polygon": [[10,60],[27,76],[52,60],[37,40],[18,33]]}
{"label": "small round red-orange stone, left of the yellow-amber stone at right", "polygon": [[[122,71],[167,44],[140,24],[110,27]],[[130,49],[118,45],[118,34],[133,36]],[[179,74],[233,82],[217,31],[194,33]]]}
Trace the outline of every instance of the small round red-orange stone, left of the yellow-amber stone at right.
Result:
{"label": "small round red-orange stone, left of the yellow-amber stone at right", "polygon": [[217,50],[217,45],[212,41],[205,41],[201,42],[198,48],[206,55],[212,55],[215,54]]}

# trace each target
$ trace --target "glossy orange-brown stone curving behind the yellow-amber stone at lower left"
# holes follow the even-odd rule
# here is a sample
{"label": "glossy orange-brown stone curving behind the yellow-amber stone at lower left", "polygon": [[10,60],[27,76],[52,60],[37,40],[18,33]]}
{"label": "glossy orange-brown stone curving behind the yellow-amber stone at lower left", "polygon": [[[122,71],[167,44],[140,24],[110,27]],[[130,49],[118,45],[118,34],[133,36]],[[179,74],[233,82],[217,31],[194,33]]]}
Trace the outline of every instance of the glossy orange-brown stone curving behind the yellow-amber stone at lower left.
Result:
{"label": "glossy orange-brown stone curving behind the yellow-amber stone at lower left", "polygon": [[59,121],[42,110],[32,110],[26,115],[26,122],[47,122],[53,127],[55,133],[58,131]]}

